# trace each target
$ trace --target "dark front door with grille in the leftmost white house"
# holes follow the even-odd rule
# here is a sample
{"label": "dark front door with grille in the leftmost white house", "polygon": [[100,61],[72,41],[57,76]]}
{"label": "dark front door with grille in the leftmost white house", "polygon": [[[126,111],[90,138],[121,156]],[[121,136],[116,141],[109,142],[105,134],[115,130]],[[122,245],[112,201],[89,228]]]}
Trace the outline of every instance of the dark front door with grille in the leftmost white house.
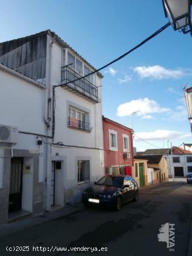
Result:
{"label": "dark front door with grille in the leftmost white house", "polygon": [[9,212],[22,209],[23,158],[11,158]]}

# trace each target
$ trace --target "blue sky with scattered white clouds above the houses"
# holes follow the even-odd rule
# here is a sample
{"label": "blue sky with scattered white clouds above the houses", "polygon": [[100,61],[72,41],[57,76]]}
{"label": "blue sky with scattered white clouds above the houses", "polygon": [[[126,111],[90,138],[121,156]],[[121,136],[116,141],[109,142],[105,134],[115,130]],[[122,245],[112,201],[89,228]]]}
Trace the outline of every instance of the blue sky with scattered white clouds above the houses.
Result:
{"label": "blue sky with scattered white clouds above the houses", "polygon": [[[0,42],[50,29],[95,68],[168,22],[161,0],[0,0]],[[191,143],[183,86],[192,86],[192,40],[170,26],[103,69],[103,115],[134,130],[133,146]]]}

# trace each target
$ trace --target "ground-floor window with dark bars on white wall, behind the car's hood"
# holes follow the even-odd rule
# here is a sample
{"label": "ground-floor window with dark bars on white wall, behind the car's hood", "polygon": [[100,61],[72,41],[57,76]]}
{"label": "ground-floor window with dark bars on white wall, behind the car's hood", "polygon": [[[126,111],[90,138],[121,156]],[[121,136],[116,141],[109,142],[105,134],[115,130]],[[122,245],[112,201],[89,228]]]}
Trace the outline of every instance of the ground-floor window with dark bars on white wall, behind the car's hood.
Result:
{"label": "ground-floor window with dark bars on white wall, behind the car's hood", "polygon": [[78,161],[78,182],[90,182],[90,163],[89,160]]}

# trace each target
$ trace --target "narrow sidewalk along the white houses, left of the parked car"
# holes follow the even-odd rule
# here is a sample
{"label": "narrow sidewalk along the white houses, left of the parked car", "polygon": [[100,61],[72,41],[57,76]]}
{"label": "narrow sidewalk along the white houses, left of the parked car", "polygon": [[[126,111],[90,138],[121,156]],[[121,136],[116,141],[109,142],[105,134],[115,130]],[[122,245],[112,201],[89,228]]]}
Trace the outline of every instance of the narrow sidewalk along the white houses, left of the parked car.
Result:
{"label": "narrow sidewalk along the white houses, left of the parked car", "polygon": [[82,203],[74,204],[69,207],[61,208],[59,210],[51,210],[45,214],[39,216],[25,218],[24,220],[1,224],[0,225],[0,237],[7,236],[9,234],[18,232],[31,226],[39,225],[44,222],[60,218],[62,216],[68,216],[80,212],[84,208]]}

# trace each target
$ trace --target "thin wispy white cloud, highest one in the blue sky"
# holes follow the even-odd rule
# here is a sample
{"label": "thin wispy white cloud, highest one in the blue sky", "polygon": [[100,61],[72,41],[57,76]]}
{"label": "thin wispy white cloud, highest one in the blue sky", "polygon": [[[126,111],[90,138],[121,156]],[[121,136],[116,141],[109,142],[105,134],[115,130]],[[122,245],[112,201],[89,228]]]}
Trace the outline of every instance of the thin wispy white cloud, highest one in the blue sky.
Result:
{"label": "thin wispy white cloud, highest one in the blue sky", "polygon": [[182,69],[167,69],[160,65],[141,66],[133,68],[133,72],[137,73],[141,79],[178,79],[185,75]]}

